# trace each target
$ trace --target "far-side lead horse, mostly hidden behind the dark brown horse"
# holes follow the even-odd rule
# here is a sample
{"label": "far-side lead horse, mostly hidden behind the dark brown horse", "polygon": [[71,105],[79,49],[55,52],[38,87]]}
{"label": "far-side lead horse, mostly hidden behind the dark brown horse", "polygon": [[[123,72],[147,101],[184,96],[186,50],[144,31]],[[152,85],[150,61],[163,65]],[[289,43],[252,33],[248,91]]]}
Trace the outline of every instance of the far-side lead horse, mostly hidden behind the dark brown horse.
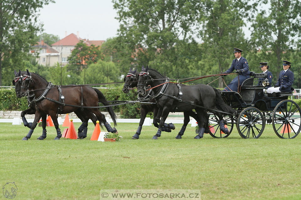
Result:
{"label": "far-side lead horse, mostly hidden behind the dark brown horse", "polygon": [[[22,95],[20,94],[20,90],[21,90],[21,84],[22,84],[22,77],[25,73],[26,73],[25,71],[21,71],[21,70],[19,70],[18,73],[16,72],[16,70],[14,71],[15,78],[13,79],[13,85],[15,86],[15,92],[16,92],[16,95],[17,95],[18,98],[22,97]],[[35,109],[34,103],[32,102],[34,98],[35,98],[34,93],[29,92],[29,95],[27,96],[27,100],[28,100],[28,103],[29,103],[29,108],[21,112],[21,118],[22,118],[23,124],[24,124],[25,127],[28,127],[28,128],[31,128],[32,123],[27,122],[27,120],[25,118],[25,115],[35,114],[36,109]],[[89,118],[87,118],[86,115],[83,115],[82,112],[80,112],[80,109],[77,109],[77,111],[75,111],[74,113],[82,121],[81,126],[78,128],[78,133],[77,133],[78,139],[84,139],[84,138],[87,137],[87,126],[88,126],[87,121],[89,120]],[[47,133],[46,133],[47,132],[46,131],[46,117],[47,117],[47,115],[44,114],[44,113],[41,113],[41,114],[42,114],[43,132],[42,132],[42,135],[39,138],[37,138],[38,140],[43,140],[47,136]],[[91,115],[91,120],[94,123],[94,125],[96,125],[97,118],[94,115]],[[23,138],[23,140],[28,140],[28,139],[29,138],[26,138],[26,137]]]}

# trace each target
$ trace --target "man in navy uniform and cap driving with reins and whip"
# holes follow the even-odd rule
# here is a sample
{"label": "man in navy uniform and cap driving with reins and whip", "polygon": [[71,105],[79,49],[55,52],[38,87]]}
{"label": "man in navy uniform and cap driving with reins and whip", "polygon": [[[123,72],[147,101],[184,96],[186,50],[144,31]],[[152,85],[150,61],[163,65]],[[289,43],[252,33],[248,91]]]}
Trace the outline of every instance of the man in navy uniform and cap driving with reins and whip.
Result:
{"label": "man in navy uniform and cap driving with reins and whip", "polygon": [[[237,88],[239,85],[241,85],[242,82],[244,82],[244,80],[246,80],[247,78],[250,78],[250,71],[249,71],[249,65],[248,62],[246,60],[246,58],[241,56],[241,52],[243,52],[241,49],[238,48],[234,48],[234,56],[235,59],[232,61],[231,67],[223,72],[222,74],[227,74],[227,73],[231,73],[234,70],[236,70],[235,73],[238,73],[238,76],[235,77],[231,83],[224,88],[223,91],[235,91],[237,92]],[[239,77],[239,85],[238,85],[238,77]]]}

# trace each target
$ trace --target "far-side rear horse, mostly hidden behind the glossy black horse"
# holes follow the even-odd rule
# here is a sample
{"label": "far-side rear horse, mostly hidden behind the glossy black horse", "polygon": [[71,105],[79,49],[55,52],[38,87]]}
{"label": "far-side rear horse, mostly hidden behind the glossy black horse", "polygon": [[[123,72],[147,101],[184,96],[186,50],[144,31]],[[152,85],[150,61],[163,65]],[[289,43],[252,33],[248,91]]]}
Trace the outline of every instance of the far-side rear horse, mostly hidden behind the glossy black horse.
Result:
{"label": "far-side rear horse, mostly hidden behind the glossy black horse", "polygon": [[[142,67],[144,67],[144,66],[142,66]],[[129,69],[129,73],[127,73],[127,75],[124,77],[124,87],[122,89],[122,91],[124,93],[129,93],[129,90],[137,87],[138,76],[139,76],[139,73],[137,72],[137,69],[135,69],[135,70],[132,70],[132,68]],[[146,100],[145,102],[147,102],[147,103],[156,103],[156,99],[152,98],[154,95],[155,94],[150,90],[149,92],[145,93],[144,95],[139,94],[138,98],[140,99],[140,101]],[[160,110],[160,113],[158,113],[158,111],[159,111],[159,108],[156,104],[141,104],[139,126],[138,126],[136,133],[132,137],[132,139],[139,139],[139,135],[142,130],[142,125],[144,123],[146,114],[148,112],[154,113],[153,124],[155,127],[159,128],[158,123],[160,122],[161,110]],[[159,116],[159,118],[156,118],[156,116]],[[176,137],[177,139],[181,139],[181,136],[184,134],[186,127],[190,121],[189,116],[193,117],[196,121],[199,121],[198,116],[195,112],[193,112],[193,111],[184,112],[184,124]],[[169,123],[169,124],[164,123],[161,131],[171,132],[171,129],[172,130],[175,129],[175,126],[172,123]]]}

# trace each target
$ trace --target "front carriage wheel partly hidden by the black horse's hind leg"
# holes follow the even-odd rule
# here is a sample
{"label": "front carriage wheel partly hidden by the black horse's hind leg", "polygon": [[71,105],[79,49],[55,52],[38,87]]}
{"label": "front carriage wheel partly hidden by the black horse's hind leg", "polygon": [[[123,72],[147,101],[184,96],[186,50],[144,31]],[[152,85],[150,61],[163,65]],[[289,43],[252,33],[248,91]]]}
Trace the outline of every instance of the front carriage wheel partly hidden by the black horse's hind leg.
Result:
{"label": "front carriage wheel partly hidden by the black horse's hind leg", "polygon": [[213,117],[209,118],[209,127],[211,126],[210,131],[214,132],[214,133],[209,132],[209,134],[213,138],[227,138],[230,135],[230,133],[232,132],[233,126],[234,126],[233,116],[227,115],[227,116],[224,116],[223,119],[224,119],[225,125],[227,125],[227,128],[229,130],[228,135],[224,134],[221,130],[219,130],[219,118],[216,115],[213,115]]}

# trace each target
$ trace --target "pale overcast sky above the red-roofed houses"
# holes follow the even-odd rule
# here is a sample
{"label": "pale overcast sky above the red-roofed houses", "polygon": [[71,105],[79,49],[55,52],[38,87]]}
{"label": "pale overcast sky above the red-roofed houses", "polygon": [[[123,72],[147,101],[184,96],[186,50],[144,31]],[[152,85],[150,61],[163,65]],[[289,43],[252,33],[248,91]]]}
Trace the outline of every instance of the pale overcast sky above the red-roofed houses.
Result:
{"label": "pale overcast sky above the red-roofed houses", "polygon": [[[111,0],[56,0],[40,10],[39,19],[44,23],[44,32],[58,35],[60,39],[65,37],[65,32],[67,35],[79,32],[82,39],[106,40],[117,34],[116,16]],[[248,27],[243,27],[243,31],[250,37]]]}

